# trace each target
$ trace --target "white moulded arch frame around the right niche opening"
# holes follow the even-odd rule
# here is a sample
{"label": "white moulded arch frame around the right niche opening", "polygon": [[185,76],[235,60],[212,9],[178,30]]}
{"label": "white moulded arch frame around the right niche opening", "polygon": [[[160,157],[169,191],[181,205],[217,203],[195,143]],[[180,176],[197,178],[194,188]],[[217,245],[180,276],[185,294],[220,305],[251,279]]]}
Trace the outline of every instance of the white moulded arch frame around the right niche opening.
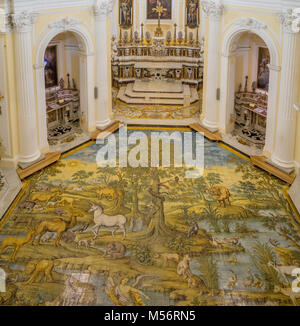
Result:
{"label": "white moulded arch frame around the right niche opening", "polygon": [[234,101],[235,86],[232,82],[232,79],[234,78],[234,67],[230,63],[230,57],[233,55],[232,46],[238,35],[241,35],[244,32],[250,32],[259,36],[265,42],[270,52],[270,86],[266,141],[264,147],[264,152],[270,156],[274,147],[280,56],[278,47],[276,46],[276,41],[270,35],[271,31],[268,31],[270,31],[268,26],[257,19],[251,17],[239,18],[231,22],[231,25],[223,38],[221,48],[220,128],[227,131]]}

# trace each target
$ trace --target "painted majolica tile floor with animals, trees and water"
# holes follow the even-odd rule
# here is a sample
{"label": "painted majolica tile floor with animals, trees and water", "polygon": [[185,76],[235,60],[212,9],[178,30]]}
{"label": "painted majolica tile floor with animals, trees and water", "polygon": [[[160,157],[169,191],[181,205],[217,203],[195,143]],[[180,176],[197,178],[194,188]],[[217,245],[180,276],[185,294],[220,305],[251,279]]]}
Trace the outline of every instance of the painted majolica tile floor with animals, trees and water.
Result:
{"label": "painted majolica tile floor with animals, trees and water", "polygon": [[195,179],[188,167],[100,168],[101,146],[24,181],[0,222],[1,305],[300,305],[285,183],[207,139]]}

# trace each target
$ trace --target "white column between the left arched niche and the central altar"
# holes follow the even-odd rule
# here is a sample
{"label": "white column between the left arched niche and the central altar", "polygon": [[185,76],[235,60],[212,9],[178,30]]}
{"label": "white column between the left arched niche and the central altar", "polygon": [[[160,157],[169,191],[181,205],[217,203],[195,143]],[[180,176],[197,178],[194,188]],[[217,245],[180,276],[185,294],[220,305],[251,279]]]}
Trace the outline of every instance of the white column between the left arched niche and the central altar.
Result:
{"label": "white column between the left arched niche and the central altar", "polygon": [[112,121],[111,112],[111,60],[110,60],[110,14],[113,1],[99,0],[94,7],[96,24],[96,127],[105,129]]}

